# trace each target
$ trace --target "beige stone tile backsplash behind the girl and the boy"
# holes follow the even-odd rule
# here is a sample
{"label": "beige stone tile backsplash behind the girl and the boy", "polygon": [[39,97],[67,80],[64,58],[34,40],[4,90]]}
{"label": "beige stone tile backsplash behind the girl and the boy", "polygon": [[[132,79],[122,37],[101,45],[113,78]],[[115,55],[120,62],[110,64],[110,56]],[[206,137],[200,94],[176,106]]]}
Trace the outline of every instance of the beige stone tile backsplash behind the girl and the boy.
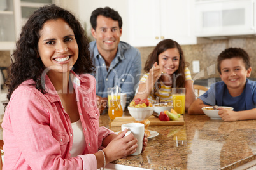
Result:
{"label": "beige stone tile backsplash behind the girl and the boy", "polygon": [[[231,38],[225,40],[215,40],[208,44],[196,44],[181,46],[185,55],[186,62],[190,63],[189,69],[192,78],[208,79],[220,77],[217,70],[217,57],[226,48],[237,47],[243,48],[250,56],[252,65],[252,74],[250,77],[256,78],[256,37]],[[141,51],[142,67],[144,68],[148,55],[153,51],[153,47],[138,48]],[[192,61],[199,60],[200,73],[193,73]],[[143,70],[144,72],[144,70]]]}

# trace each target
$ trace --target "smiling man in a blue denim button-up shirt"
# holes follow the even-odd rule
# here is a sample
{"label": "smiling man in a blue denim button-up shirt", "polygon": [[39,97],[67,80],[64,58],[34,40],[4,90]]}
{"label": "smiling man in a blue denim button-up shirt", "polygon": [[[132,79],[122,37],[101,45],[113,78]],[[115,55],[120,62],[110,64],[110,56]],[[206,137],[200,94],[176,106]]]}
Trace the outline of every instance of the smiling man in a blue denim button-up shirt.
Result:
{"label": "smiling man in a blue denim button-up shirt", "polygon": [[127,103],[134,97],[141,75],[139,50],[120,41],[122,18],[117,11],[97,8],[90,16],[92,36],[90,42],[92,59],[96,66],[96,95],[102,113],[108,101],[108,88],[119,86],[127,93]]}

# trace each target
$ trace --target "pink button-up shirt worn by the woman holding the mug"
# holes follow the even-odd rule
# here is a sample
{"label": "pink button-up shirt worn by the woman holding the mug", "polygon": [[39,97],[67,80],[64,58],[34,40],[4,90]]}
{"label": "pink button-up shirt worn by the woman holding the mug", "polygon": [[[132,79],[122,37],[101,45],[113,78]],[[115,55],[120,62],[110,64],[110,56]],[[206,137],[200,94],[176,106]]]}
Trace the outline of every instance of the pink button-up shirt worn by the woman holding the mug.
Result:
{"label": "pink button-up shirt worn by the woman holding the mug", "polygon": [[97,169],[93,153],[113,131],[99,127],[96,81],[92,75],[74,72],[71,80],[76,91],[78,111],[87,147],[83,154],[70,157],[73,130],[59,95],[46,76],[46,91],[41,93],[23,82],[11,95],[4,113],[3,169]]}

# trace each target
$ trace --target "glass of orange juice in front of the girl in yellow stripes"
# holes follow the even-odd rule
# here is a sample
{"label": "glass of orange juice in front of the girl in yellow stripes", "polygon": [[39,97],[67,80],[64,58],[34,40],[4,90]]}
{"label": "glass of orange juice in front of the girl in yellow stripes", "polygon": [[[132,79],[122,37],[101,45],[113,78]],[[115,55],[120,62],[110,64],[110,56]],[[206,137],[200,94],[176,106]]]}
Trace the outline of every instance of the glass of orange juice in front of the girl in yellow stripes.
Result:
{"label": "glass of orange juice in front of the girl in yellow stripes", "polygon": [[171,92],[173,94],[173,109],[178,114],[185,114],[185,88],[172,88]]}

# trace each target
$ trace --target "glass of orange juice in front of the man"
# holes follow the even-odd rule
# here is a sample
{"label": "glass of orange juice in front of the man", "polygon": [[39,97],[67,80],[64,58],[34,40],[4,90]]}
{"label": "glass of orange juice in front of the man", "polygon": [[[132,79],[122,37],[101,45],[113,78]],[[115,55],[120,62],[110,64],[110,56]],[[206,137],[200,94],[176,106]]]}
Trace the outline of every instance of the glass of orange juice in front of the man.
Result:
{"label": "glass of orange juice in front of the man", "polygon": [[121,88],[118,86],[108,88],[108,115],[111,120],[123,115],[120,93]]}

